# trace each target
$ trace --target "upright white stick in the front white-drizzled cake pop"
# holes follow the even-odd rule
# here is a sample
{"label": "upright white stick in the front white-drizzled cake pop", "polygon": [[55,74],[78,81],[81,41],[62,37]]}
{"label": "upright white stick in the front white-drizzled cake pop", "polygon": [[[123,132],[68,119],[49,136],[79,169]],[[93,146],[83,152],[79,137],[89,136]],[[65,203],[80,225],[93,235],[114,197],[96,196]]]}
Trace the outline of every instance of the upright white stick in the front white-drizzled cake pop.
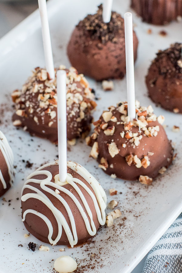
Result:
{"label": "upright white stick in the front white-drizzled cake pop", "polygon": [[57,116],[58,116],[58,154],[59,181],[64,183],[67,175],[67,142],[66,142],[66,71],[57,72]]}

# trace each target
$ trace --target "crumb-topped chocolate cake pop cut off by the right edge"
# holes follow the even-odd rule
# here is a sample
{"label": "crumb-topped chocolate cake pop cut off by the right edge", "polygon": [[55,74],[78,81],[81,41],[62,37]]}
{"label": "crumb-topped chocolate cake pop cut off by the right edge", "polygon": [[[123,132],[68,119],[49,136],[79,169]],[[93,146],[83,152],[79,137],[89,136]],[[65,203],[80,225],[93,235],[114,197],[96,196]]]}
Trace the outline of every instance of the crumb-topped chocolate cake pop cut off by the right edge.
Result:
{"label": "crumb-topped chocolate cake pop cut off by the right edge", "polygon": [[181,43],[160,50],[146,76],[149,96],[155,103],[174,113],[182,113]]}

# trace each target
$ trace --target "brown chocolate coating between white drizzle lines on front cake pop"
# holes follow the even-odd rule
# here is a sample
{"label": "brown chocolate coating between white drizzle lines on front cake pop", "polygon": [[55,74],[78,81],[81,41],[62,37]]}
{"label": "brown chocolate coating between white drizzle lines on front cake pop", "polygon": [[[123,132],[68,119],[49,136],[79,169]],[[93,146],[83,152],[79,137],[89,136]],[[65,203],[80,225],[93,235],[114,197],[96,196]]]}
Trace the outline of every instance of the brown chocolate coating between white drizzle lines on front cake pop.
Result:
{"label": "brown chocolate coating between white drizzle lines on front cake pop", "polygon": [[[59,172],[58,165],[51,165],[48,167],[44,167],[42,170],[48,170],[51,172],[52,177],[53,177],[51,180],[52,182],[54,182],[54,177]],[[94,194],[92,187],[87,183],[86,180],[84,180],[83,177],[81,177],[78,173],[74,172],[70,168],[67,169],[67,172],[69,174],[71,174],[73,177],[76,177],[79,180],[81,180],[84,184],[86,184],[89,187],[89,189],[92,191],[92,193]],[[45,177],[46,177],[45,175],[36,175],[32,178],[41,180],[41,179],[45,179]],[[38,188],[41,192],[43,192],[48,197],[48,199],[52,202],[52,204],[59,211],[61,211],[61,213],[65,217],[65,219],[71,229],[71,222],[70,222],[70,219],[68,216],[68,212],[66,211],[63,204],[58,200],[58,198],[56,198],[52,194],[42,190],[42,188],[40,187],[40,184],[35,184],[32,182],[30,182],[28,184]],[[93,215],[93,221],[94,221],[95,227],[98,230],[100,224],[98,222],[98,218],[97,218],[97,214],[95,211],[93,200],[92,200],[91,196],[88,194],[88,192],[83,187],[81,187],[79,184],[77,184],[77,186],[81,190],[82,194],[84,195],[84,197],[90,207],[91,213]],[[53,188],[51,186],[47,186],[47,187],[55,190],[55,188]],[[79,203],[83,207],[83,210],[86,213],[86,215],[89,219],[89,223],[90,223],[90,218],[87,214],[87,211],[85,210],[84,204],[82,203],[82,200],[81,200],[80,196],[78,195],[77,191],[74,189],[74,187],[72,187],[70,184],[65,184],[62,187],[69,190],[77,198],[77,200],[79,201]],[[25,188],[23,190],[22,196],[24,194],[32,193],[32,192],[33,192],[33,190]],[[78,210],[78,207],[73,202],[71,197],[69,197],[67,194],[63,193],[62,191],[60,191],[60,196],[63,197],[64,200],[68,203],[68,206],[70,207],[71,212],[73,214],[75,225],[76,225],[76,230],[77,230],[78,243],[83,243],[84,241],[86,241],[92,237],[87,231],[83,217],[81,216],[81,213]],[[95,196],[95,194],[94,194],[94,196]],[[57,223],[52,211],[43,202],[41,202],[40,200],[35,199],[35,198],[29,198],[27,201],[22,201],[22,217],[23,217],[23,213],[28,209],[33,209],[35,211],[38,211],[38,212],[44,214],[46,217],[48,217],[48,219],[51,221],[51,224],[53,227],[52,239],[55,240],[55,238],[58,235],[58,223]],[[38,217],[35,214],[28,213],[25,217],[24,224],[25,224],[25,227],[28,230],[28,232],[30,232],[32,235],[34,235],[38,240],[43,241],[48,244],[50,243],[48,240],[48,227],[47,227],[45,221],[43,221],[40,217]],[[72,231],[72,229],[71,229],[71,231]],[[68,241],[68,238],[67,238],[64,228],[62,230],[61,238],[57,244],[58,245],[69,245],[69,241]]]}

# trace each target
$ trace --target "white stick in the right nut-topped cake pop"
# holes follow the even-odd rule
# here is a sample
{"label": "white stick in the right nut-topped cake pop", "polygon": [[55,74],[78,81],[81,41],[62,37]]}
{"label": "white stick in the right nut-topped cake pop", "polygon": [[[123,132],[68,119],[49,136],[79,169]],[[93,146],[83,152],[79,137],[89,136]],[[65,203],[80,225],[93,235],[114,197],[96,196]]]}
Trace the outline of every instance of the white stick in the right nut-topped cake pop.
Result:
{"label": "white stick in the right nut-topped cake pop", "polygon": [[128,116],[130,120],[135,119],[135,90],[134,90],[134,57],[133,57],[133,22],[132,13],[124,14],[125,51],[126,51],[126,82]]}

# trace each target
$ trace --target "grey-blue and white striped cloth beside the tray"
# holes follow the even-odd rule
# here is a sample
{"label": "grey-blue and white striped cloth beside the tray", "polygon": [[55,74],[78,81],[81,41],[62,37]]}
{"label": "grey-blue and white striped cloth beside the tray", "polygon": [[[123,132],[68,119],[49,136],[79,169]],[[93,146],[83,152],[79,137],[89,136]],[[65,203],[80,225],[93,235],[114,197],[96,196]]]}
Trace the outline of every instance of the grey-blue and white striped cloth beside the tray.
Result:
{"label": "grey-blue and white striped cloth beside the tray", "polygon": [[182,273],[182,214],[151,249],[142,273]]}

